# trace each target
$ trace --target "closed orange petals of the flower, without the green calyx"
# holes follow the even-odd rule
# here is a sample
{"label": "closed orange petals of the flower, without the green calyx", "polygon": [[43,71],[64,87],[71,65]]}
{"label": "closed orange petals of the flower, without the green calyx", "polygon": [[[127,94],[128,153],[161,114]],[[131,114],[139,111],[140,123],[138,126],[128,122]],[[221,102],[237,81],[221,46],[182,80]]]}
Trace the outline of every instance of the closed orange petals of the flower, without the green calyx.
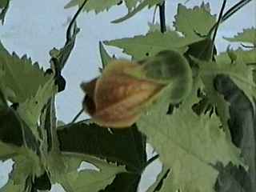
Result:
{"label": "closed orange petals of the flower, without the green calyx", "polygon": [[161,83],[129,74],[137,69],[134,62],[115,60],[106,66],[101,77],[82,83],[86,93],[83,105],[94,122],[113,128],[131,126],[164,88]]}

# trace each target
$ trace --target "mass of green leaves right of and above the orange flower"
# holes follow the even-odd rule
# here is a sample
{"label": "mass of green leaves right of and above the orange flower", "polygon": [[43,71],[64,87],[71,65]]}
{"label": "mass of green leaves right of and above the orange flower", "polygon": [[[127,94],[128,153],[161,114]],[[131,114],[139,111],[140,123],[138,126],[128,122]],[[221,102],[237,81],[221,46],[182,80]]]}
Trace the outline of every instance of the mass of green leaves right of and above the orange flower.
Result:
{"label": "mass of green leaves right of and above the orange flower", "polygon": [[[176,50],[184,54],[194,71],[193,90],[178,109],[172,114],[168,112],[170,100],[164,94],[136,123],[163,164],[154,190],[152,186],[149,191],[253,191],[256,187],[253,126],[256,30],[244,30],[234,38],[226,38],[230,42],[251,43],[252,50],[228,49],[215,55],[214,42],[198,35],[208,34],[215,22],[208,4],[194,9],[179,5],[175,30],[164,34],[150,30],[146,35],[105,42],[121,48],[134,60],[146,59],[162,50]],[[247,107],[250,127],[242,124],[245,116],[237,112],[234,100]],[[236,118],[242,122],[238,124]],[[250,135],[246,129],[250,129]],[[239,142],[234,142],[238,138]],[[245,165],[249,166],[247,172]],[[246,183],[245,178],[248,178]],[[164,185],[159,189],[158,183],[162,182]]]}

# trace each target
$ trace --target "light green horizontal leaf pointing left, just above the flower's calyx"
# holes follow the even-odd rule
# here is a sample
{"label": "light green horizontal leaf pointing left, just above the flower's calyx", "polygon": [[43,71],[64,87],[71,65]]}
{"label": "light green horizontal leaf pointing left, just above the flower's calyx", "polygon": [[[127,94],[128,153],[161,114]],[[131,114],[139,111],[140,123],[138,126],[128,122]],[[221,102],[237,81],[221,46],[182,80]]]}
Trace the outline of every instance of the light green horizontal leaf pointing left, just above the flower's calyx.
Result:
{"label": "light green horizontal leaf pointing left, just above the flower's calyx", "polygon": [[135,60],[154,56],[161,50],[178,50],[184,53],[188,39],[180,37],[175,31],[167,31],[162,34],[160,31],[150,32],[146,35],[138,35],[134,38],[122,38],[104,42],[108,46],[117,46],[123,52],[130,54]]}

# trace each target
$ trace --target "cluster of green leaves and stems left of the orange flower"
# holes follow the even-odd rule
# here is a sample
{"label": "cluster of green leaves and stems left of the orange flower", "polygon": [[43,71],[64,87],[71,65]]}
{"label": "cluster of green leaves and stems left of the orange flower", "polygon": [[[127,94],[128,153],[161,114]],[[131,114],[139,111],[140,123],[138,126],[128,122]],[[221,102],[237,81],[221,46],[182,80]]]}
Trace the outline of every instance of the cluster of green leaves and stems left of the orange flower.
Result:
{"label": "cluster of green leaves and stems left of the orange flower", "polygon": [[[2,192],[50,190],[57,182],[66,191],[98,191],[112,183],[117,174],[127,173],[116,159],[107,162],[104,155],[96,158],[86,149],[83,153],[76,149],[69,151],[66,149],[72,145],[59,142],[58,135],[65,141],[66,129],[64,134],[58,132],[54,98],[65,88],[61,70],[78,34],[73,24],[67,31],[65,46],[50,51],[51,68],[46,71],[26,55],[19,58],[0,44],[0,160],[14,161],[9,181],[0,189]],[[78,169],[82,162],[89,162],[97,169]]]}

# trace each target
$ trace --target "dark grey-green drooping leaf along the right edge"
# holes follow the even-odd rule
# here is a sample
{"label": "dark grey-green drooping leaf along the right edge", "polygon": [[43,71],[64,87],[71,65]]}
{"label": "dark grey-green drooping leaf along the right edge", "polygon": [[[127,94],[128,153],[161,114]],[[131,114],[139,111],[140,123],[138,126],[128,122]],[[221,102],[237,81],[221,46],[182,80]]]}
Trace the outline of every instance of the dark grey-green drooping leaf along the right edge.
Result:
{"label": "dark grey-green drooping leaf along the right edge", "polygon": [[[256,187],[255,173],[255,130],[254,111],[250,100],[238,86],[228,77],[219,77],[216,90],[224,95],[227,102],[230,102],[229,128],[234,145],[242,151],[242,158],[248,166],[248,170],[242,167],[226,166],[221,167],[221,174],[218,176],[218,188],[229,191],[253,191]],[[250,190],[251,189],[251,190]]]}

